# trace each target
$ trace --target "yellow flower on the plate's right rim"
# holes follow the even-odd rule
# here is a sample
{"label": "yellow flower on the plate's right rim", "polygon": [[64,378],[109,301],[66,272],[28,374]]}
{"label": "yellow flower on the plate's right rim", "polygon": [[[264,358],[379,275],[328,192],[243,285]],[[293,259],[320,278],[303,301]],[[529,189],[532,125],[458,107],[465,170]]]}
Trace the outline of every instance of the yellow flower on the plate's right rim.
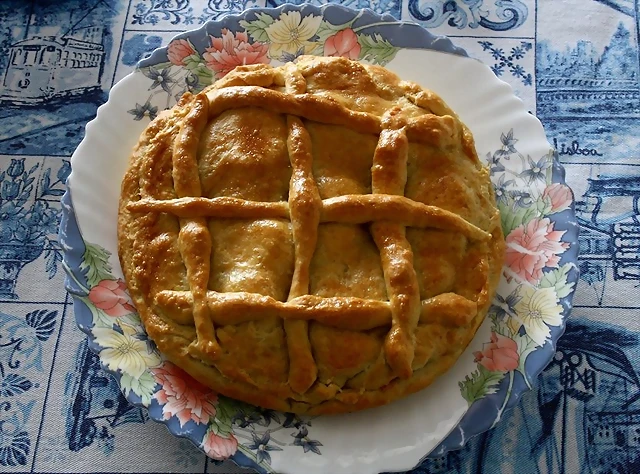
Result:
{"label": "yellow flower on the plate's right rim", "polygon": [[554,288],[525,287],[522,299],[515,305],[516,314],[507,324],[515,333],[524,326],[526,333],[538,345],[544,345],[551,335],[549,326],[562,323],[562,306]]}

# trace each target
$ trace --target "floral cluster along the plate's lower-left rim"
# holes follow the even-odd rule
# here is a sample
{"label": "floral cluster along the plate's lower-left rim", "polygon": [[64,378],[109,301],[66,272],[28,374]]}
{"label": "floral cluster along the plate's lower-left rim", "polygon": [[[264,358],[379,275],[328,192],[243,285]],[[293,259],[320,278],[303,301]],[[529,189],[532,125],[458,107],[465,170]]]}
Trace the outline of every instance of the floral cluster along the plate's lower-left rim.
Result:
{"label": "floral cluster along the plate's lower-left rim", "polygon": [[[212,459],[224,460],[238,451],[264,472],[271,469],[270,451],[281,446],[300,446],[304,453],[321,454],[322,443],[310,439],[311,418],[278,413],[218,396],[182,369],[163,360],[147,337],[122,280],[112,274],[110,252],[84,243],[80,275],[63,262],[74,280],[74,296],[91,312],[93,342],[101,363],[120,377],[126,396],[139,397],[161,410],[162,420],[178,420],[204,427],[199,447]],[[81,281],[84,280],[84,281]]]}

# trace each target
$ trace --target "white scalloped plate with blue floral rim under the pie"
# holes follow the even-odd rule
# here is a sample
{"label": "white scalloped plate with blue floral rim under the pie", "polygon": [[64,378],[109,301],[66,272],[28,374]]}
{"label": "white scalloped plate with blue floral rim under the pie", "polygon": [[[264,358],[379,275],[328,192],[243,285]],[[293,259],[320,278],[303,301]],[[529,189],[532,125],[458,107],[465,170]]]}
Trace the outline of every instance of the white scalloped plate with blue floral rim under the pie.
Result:
{"label": "white scalloped plate with blue floral rim under the pie", "polygon": [[[494,305],[450,371],[388,406],[313,419],[217,396],[164,361],[130,303],[116,238],[120,182],[149,120],[238,64],[277,65],[300,54],[382,64],[438,93],[491,169],[507,236]],[[71,163],[60,237],[78,325],[131,403],[213,459],[285,474],[411,469],[494,426],[551,360],[564,330],[578,278],[577,224],[554,151],[508,85],[418,25],[334,5],[248,10],[207,23],[112,89]]]}

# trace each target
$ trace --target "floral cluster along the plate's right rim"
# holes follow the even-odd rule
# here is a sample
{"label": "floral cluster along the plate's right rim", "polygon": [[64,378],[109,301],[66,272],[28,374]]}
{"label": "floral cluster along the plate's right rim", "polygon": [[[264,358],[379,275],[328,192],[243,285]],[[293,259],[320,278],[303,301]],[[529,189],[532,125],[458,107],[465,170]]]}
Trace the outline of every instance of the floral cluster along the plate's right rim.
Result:
{"label": "floral cluster along the plate's right rim", "polygon": [[527,357],[549,341],[550,327],[562,324],[560,299],[573,291],[569,272],[577,271],[573,262],[559,264],[569,243],[562,241],[566,231],[555,230],[552,218],[571,207],[573,194],[567,185],[553,182],[554,155],[537,160],[523,156],[513,129],[500,141],[502,147],[488,153],[486,161],[506,242],[503,284],[488,313],[491,338],[474,353],[477,370],[459,382],[462,396],[472,405],[496,393],[508,379],[496,420],[511,398],[516,372],[531,388]]}

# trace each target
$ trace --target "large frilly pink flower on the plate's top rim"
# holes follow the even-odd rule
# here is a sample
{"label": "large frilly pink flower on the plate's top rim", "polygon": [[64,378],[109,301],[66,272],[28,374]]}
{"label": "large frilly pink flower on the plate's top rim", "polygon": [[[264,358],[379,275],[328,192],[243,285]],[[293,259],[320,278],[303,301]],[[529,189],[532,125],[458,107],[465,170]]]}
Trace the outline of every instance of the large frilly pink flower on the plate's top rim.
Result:
{"label": "large frilly pink flower on the plate's top rim", "polygon": [[264,43],[249,43],[244,31],[232,33],[223,28],[222,36],[211,36],[211,47],[202,55],[205,64],[217,79],[224,77],[236,66],[246,64],[267,64],[269,46]]}

